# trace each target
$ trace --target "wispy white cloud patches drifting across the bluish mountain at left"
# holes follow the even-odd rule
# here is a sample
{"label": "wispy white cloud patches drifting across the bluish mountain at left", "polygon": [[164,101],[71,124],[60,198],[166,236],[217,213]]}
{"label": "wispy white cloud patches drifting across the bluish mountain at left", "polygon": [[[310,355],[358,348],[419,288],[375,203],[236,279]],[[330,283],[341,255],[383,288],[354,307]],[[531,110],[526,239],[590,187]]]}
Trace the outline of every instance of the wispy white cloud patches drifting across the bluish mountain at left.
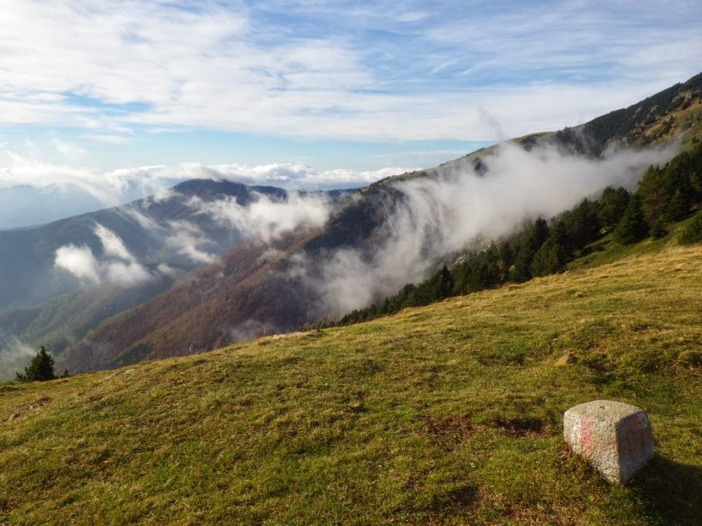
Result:
{"label": "wispy white cloud patches drifting across the bluish mountain at left", "polygon": [[[180,220],[154,219],[147,213],[150,204],[166,203],[171,199],[184,201],[190,218]],[[163,240],[166,249],[154,270],[147,269],[128,249],[124,241],[105,226],[95,223],[93,234],[102,251],[95,254],[88,245],[63,245],[55,252],[55,267],[69,272],[84,283],[111,283],[131,287],[151,281],[158,276],[175,276],[176,269],[168,266],[171,258],[187,264],[211,264],[219,255],[242,238],[256,238],[270,243],[289,231],[322,227],[329,219],[332,203],[326,194],[289,191],[269,196],[252,192],[251,201],[239,204],[233,196],[205,200],[164,191],[147,202],[143,208],[126,207],[121,211],[148,236]],[[227,231],[228,241],[216,239],[197,224],[197,216],[206,216],[220,231]]]}

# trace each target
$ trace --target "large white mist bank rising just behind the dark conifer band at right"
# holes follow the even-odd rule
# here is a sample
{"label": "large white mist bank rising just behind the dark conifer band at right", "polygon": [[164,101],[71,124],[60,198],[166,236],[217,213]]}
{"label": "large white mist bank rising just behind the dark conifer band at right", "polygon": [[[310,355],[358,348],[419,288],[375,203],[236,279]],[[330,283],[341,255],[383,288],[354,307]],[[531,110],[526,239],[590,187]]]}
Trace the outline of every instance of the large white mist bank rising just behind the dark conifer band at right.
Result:
{"label": "large white mist bank rising just behind the dark conifer band at right", "polygon": [[335,250],[321,265],[303,258],[295,272],[314,276],[318,314],[338,316],[420,281],[451,252],[489,243],[525,220],[552,217],[608,185],[633,187],[647,166],[670,154],[618,151],[593,161],[505,143],[483,159],[485,175],[460,163],[396,183],[402,199],[374,236],[380,241],[369,250]]}

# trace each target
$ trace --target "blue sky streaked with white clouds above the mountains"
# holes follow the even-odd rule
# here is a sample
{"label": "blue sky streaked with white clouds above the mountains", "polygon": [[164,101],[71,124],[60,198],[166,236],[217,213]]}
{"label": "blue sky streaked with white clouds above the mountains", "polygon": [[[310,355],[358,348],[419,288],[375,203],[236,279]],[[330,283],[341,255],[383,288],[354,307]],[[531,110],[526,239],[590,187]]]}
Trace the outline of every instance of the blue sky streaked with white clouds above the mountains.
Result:
{"label": "blue sky streaked with white clouds above the mountains", "polygon": [[368,184],[685,81],[700,34],[698,0],[3,0],[0,186]]}

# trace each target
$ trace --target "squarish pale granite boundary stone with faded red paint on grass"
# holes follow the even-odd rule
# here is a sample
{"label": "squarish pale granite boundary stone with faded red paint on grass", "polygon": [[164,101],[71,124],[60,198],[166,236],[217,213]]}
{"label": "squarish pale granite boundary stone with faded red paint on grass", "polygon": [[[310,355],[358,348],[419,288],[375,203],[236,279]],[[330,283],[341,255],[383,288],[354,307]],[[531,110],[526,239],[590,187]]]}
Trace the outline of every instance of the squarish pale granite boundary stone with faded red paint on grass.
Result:
{"label": "squarish pale granite boundary stone with faded red paint on grass", "polygon": [[646,413],[635,405],[595,400],[563,415],[563,434],[573,452],[611,483],[632,478],[654,456]]}

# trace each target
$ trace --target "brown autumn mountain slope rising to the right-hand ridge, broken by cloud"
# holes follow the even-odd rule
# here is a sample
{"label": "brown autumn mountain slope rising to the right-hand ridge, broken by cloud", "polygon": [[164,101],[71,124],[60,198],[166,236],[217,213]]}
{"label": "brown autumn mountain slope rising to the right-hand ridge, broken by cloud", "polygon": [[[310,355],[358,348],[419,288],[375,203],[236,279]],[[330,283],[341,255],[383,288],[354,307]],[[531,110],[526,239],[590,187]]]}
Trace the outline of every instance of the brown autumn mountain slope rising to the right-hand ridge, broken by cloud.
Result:
{"label": "brown autumn mountain slope rising to the right-hand ridge, broken by cloud", "polygon": [[[585,125],[528,135],[515,142],[525,149],[550,143],[571,153],[592,156],[606,144],[623,144],[624,140],[630,146],[672,141],[691,145],[702,136],[701,88],[702,74]],[[668,126],[666,134],[656,131],[655,136],[640,140],[638,133],[653,133],[651,130],[658,130],[673,113],[677,120]],[[644,119],[645,124],[639,119]],[[604,126],[604,123],[610,124]],[[683,126],[683,123],[686,124]],[[585,128],[609,131],[598,132],[595,138]],[[359,250],[365,258],[372,257],[383,242],[382,227],[387,218],[394,210],[402,209],[403,194],[393,186],[396,182],[445,177],[453,170],[472,173],[470,170],[475,168],[477,173],[484,173],[482,170],[487,163],[482,163],[482,159],[490,152],[491,149],[482,149],[435,170],[403,174],[371,184],[333,214],[316,236],[308,238],[305,232],[292,242],[285,241],[283,246],[275,247],[281,257],[272,262],[260,259],[261,247],[237,245],[220,262],[189,280],[103,321],[84,339],[69,346],[60,358],[60,365],[74,372],[84,372],[142,359],[182,356],[241,339],[293,330],[329,316],[329,312],[320,311],[317,292],[308,286],[310,282],[324,279],[322,269],[312,269],[305,280],[284,277],[294,274],[291,269],[295,259],[303,257],[321,262],[326,252],[345,248]],[[447,259],[451,257],[453,255],[448,255]]]}

